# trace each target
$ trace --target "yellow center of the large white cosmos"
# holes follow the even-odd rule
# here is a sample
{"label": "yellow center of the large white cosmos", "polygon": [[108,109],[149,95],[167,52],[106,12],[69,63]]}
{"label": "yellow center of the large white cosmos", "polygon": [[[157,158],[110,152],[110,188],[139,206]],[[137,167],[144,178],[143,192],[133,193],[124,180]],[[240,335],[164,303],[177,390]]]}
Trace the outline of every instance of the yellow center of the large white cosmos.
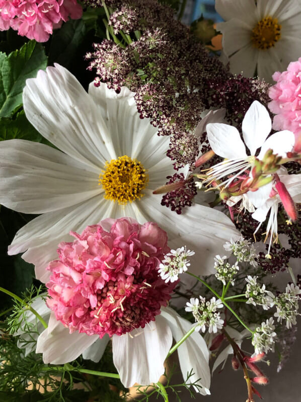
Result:
{"label": "yellow center of the large white cosmos", "polygon": [[106,162],[105,170],[99,175],[99,185],[105,190],[105,199],[125,205],[140,199],[148,183],[148,175],[140,162],[127,155]]}

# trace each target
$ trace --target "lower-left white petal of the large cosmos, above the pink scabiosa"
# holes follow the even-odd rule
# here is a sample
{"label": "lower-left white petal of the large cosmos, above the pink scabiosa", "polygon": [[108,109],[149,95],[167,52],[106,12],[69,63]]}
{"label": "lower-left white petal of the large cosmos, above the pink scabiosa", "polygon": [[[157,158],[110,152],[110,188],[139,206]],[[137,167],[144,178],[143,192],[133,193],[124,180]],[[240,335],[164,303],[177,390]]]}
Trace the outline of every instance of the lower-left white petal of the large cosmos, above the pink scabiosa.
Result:
{"label": "lower-left white petal of the large cosmos, above the pink scabiosa", "polygon": [[[73,241],[69,231],[81,233],[88,225],[95,224],[107,217],[115,217],[116,205],[97,196],[59,211],[48,212],[33,219],[16,234],[9,254],[24,252],[22,258],[35,265],[36,277],[47,282],[50,271],[45,268],[57,258],[57,245],[62,241]],[[122,215],[124,216],[124,215]]]}

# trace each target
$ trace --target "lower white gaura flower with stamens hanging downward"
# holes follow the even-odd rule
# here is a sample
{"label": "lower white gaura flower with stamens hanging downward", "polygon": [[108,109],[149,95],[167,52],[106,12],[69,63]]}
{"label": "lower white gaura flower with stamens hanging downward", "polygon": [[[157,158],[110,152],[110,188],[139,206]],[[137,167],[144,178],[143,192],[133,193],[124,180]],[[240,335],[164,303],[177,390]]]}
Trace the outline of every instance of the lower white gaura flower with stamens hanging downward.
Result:
{"label": "lower white gaura flower with stamens hanging downward", "polygon": [[[280,182],[282,182],[285,185],[293,201],[301,202],[301,175],[286,174],[278,176]],[[269,256],[272,240],[277,242],[277,233],[278,233],[277,214],[278,214],[278,204],[281,202],[281,200],[276,190],[275,195],[272,197],[267,197],[264,202],[262,202],[263,198],[258,199],[255,198],[256,192],[252,194],[251,193],[252,192],[248,192],[250,197],[254,197],[252,202],[254,203],[255,207],[257,207],[256,211],[252,214],[252,218],[260,222],[254,233],[258,231],[259,227],[266,220],[266,217],[270,211],[270,216],[266,227],[266,234],[267,234],[266,238],[270,236],[269,249],[267,254],[267,256]]]}

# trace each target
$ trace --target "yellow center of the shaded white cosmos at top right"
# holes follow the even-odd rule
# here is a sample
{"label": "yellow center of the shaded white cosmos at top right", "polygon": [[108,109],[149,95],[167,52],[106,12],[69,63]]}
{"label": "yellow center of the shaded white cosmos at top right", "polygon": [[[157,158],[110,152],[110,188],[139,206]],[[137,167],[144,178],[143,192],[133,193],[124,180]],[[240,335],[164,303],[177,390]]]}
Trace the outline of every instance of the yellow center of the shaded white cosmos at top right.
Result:
{"label": "yellow center of the shaded white cosmos at top right", "polygon": [[277,18],[265,17],[252,29],[251,40],[253,47],[269,49],[281,37],[281,25]]}

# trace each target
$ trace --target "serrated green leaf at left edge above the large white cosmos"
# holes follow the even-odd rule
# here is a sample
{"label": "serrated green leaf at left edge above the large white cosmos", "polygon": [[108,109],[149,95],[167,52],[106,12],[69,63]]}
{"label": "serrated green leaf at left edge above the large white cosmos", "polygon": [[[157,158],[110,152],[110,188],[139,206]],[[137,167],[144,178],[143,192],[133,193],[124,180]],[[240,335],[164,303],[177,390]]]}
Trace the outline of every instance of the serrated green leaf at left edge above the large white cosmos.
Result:
{"label": "serrated green leaf at left edge above the large white cosmos", "polygon": [[9,56],[0,53],[0,117],[10,117],[22,105],[25,81],[44,70],[47,57],[40,43],[31,40]]}

